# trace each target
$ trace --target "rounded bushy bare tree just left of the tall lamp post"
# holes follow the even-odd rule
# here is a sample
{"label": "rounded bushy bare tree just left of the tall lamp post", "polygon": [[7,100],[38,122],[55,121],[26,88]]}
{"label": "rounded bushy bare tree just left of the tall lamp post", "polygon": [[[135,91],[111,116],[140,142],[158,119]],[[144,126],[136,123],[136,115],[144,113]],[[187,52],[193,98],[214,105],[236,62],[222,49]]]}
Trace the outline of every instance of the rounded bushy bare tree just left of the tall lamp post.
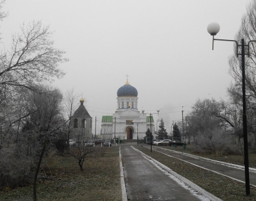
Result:
{"label": "rounded bushy bare tree just left of the tall lamp post", "polygon": [[[227,132],[225,124],[229,122],[222,110],[222,101],[214,99],[197,100],[187,116],[187,132],[195,136],[195,150],[222,154],[225,150]],[[218,116],[220,115],[220,116]],[[225,120],[223,118],[226,118]],[[230,123],[231,124],[231,123]]]}

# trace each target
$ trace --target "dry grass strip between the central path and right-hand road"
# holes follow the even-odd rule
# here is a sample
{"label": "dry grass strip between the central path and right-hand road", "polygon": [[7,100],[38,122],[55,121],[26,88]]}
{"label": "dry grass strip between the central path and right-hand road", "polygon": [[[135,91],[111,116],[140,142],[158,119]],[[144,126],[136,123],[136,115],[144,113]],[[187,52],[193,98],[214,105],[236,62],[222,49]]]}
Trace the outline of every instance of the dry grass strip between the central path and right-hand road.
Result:
{"label": "dry grass strip between the central path and right-hand road", "polygon": [[[137,148],[137,147],[135,147]],[[211,194],[222,200],[256,200],[256,188],[250,188],[250,196],[245,195],[245,184],[228,179],[208,170],[200,169],[194,165],[182,162],[179,159],[170,158],[159,152],[150,152],[150,149],[139,146],[137,149],[158,160],[170,169],[194,182]]]}

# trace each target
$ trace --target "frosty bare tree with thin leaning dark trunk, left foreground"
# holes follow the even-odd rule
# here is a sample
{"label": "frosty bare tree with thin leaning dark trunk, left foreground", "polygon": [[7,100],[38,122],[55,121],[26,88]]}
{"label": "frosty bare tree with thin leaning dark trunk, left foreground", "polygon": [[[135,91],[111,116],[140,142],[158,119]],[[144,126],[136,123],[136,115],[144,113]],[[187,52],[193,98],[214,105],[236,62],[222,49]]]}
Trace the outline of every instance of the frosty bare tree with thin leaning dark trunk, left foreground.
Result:
{"label": "frosty bare tree with thin leaning dark trunk, left foreground", "polygon": [[32,130],[39,134],[41,144],[41,154],[34,175],[34,200],[36,197],[37,175],[41,166],[42,157],[46,151],[47,144],[56,142],[61,135],[61,127],[65,124],[62,116],[62,94],[57,89],[51,87],[41,87],[44,94],[32,94],[31,101],[36,105],[36,113],[31,115]]}

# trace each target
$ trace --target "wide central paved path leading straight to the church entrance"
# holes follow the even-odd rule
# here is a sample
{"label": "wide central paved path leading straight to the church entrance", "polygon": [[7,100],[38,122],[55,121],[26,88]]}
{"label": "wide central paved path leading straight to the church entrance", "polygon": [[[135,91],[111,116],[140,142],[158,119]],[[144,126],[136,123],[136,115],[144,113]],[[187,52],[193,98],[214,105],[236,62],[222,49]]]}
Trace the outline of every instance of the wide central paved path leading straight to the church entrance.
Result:
{"label": "wide central paved path leading straight to the church entrance", "polygon": [[170,179],[129,144],[121,145],[121,155],[128,200],[202,200],[196,192]]}

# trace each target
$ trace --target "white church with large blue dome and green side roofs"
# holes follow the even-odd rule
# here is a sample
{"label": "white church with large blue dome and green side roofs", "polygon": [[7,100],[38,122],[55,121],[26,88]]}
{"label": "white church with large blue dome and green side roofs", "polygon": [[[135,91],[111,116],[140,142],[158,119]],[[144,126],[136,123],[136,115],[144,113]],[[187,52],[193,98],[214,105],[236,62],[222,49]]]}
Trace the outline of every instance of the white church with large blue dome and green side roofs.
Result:
{"label": "white church with large blue dome and green side roofs", "polygon": [[[142,139],[150,129],[150,117],[138,110],[138,91],[126,81],[117,90],[117,109],[113,115],[102,116],[101,139]],[[154,135],[154,119],[151,117]]]}

